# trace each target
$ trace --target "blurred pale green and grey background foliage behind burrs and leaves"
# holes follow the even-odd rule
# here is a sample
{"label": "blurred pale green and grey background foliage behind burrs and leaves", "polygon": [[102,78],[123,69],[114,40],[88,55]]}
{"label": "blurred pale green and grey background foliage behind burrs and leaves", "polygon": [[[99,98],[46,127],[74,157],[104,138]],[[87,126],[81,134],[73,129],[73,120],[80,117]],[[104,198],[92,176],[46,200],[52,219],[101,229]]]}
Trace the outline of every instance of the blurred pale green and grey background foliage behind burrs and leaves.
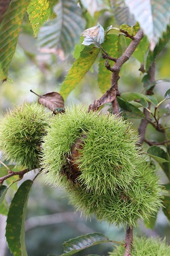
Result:
{"label": "blurred pale green and grey background foliage behind burrs and leaves", "polygon": [[[108,25],[118,27],[114,16],[104,10],[95,12],[93,18],[88,12],[84,12],[84,16],[87,20],[86,28],[95,26],[97,21],[104,28]],[[81,47],[80,44],[77,47]],[[156,61],[156,80],[169,79],[169,59],[170,44],[167,44]],[[71,63],[73,63],[73,54],[64,55],[62,51],[40,52],[37,46],[37,38],[33,38],[31,26],[28,24],[27,17],[25,17],[16,53],[10,66],[9,76],[13,82],[7,81],[0,87],[0,115],[3,116],[6,109],[9,110],[18,104],[22,104],[24,100],[36,101],[37,98],[34,94],[31,94],[30,89],[40,95],[49,91],[59,91]],[[140,73],[139,68],[140,63],[134,57],[131,57],[124,64],[120,73],[120,93],[125,91],[141,93],[143,91],[141,82],[143,74]],[[97,72],[97,65],[94,64],[82,79],[80,85],[71,92],[65,102],[66,105],[80,102],[88,105],[102,95],[97,85]],[[154,90],[156,98],[163,100],[167,89],[169,89],[169,83],[158,83]],[[166,104],[168,103],[166,102]],[[167,109],[170,109],[170,104],[167,105]],[[133,128],[137,130],[139,120],[133,119],[130,121],[133,122]],[[154,140],[155,136],[157,139],[159,137],[160,140],[162,139],[162,134],[153,132],[152,126],[148,125],[147,137]],[[34,176],[35,173],[29,173],[28,175]],[[28,178],[28,175],[26,175],[26,178]],[[163,183],[167,182],[167,178],[159,167],[158,175],[161,176]],[[12,198],[11,193],[14,193],[14,191],[9,191],[7,194],[9,201]],[[5,216],[1,216],[0,223],[2,236],[2,231],[4,232],[5,229]],[[135,234],[138,236],[143,234],[147,236],[166,236],[167,242],[170,244],[169,223],[162,212],[158,214],[154,229],[147,229],[143,223],[140,223],[140,225],[140,228],[135,229]],[[49,186],[46,184],[46,177],[39,175],[33,184],[27,209],[26,244],[28,255],[42,256],[48,253],[60,255],[63,253],[61,245],[63,242],[92,232],[104,233],[111,240],[124,239],[124,227],[109,227],[107,223],[99,223],[95,218],[92,218],[91,221],[86,220],[80,212],[75,214],[74,209],[69,205],[63,188]],[[2,251],[4,255],[1,254],[1,256],[10,255],[2,238],[0,243],[0,247],[4,248]],[[107,252],[111,250],[112,244],[102,244],[86,249],[78,255],[88,255],[89,253],[107,255]]]}

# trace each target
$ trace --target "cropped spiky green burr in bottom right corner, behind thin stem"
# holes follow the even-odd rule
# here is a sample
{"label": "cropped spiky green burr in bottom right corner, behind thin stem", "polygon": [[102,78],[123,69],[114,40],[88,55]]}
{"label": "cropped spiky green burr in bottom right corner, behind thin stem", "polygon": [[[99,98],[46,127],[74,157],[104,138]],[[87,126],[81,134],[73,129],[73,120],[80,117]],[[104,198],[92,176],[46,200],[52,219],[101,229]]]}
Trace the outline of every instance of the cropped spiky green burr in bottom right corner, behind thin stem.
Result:
{"label": "cropped spiky green burr in bottom right corner, behind thin stem", "polygon": [[[124,246],[116,246],[109,256],[124,256]],[[131,256],[169,256],[170,246],[160,238],[134,238]]]}

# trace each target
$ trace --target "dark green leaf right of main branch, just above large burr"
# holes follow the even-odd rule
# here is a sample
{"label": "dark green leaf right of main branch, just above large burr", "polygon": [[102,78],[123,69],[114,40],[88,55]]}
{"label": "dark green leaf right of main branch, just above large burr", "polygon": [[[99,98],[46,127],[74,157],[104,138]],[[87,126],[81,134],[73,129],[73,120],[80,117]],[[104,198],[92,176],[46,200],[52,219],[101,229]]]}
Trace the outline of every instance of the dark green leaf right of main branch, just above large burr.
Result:
{"label": "dark green leaf right of main branch, just above large burr", "polygon": [[143,112],[141,112],[139,109],[137,109],[137,107],[133,106],[133,104],[129,103],[128,101],[117,97],[118,99],[118,104],[120,106],[120,108],[122,110],[121,113],[123,115],[124,118],[128,119],[128,118],[144,118],[145,115],[143,114]]}

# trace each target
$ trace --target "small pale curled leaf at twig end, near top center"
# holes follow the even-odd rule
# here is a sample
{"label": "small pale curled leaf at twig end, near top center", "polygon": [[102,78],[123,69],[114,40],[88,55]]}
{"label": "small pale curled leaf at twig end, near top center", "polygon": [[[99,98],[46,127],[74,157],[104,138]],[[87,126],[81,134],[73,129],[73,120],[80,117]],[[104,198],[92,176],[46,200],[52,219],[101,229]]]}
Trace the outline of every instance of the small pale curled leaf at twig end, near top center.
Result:
{"label": "small pale curled leaf at twig end, near top center", "polygon": [[95,27],[90,27],[90,29],[84,30],[81,35],[85,37],[82,44],[86,46],[95,44],[96,47],[99,47],[101,44],[103,44],[105,39],[105,31],[100,24],[97,24]]}

